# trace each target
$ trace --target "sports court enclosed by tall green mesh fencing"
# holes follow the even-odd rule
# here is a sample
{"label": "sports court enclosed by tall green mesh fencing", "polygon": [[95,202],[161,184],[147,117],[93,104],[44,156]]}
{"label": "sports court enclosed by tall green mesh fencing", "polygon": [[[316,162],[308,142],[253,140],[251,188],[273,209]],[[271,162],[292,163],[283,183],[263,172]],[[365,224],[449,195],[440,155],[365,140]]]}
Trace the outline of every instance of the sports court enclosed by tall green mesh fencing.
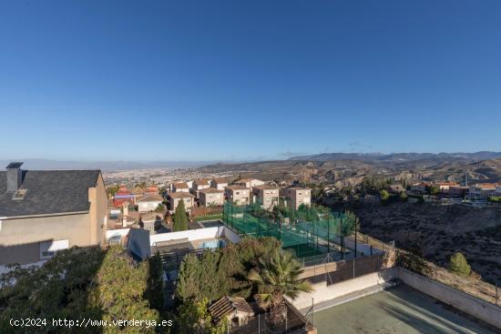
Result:
{"label": "sports court enclosed by tall green mesh fencing", "polygon": [[275,237],[281,240],[282,248],[293,250],[297,258],[335,252],[343,258],[351,252],[344,238],[353,234],[356,227],[354,215],[325,207],[276,206],[266,210],[260,203],[238,206],[230,201],[224,204],[223,222],[240,236]]}

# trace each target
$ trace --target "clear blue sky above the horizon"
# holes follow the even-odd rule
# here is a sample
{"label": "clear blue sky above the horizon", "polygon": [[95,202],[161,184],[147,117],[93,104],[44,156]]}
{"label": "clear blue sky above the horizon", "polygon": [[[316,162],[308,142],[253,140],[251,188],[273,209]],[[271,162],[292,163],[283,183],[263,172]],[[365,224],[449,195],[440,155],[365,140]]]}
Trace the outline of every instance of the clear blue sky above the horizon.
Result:
{"label": "clear blue sky above the horizon", "polygon": [[501,1],[0,1],[0,157],[501,150]]}

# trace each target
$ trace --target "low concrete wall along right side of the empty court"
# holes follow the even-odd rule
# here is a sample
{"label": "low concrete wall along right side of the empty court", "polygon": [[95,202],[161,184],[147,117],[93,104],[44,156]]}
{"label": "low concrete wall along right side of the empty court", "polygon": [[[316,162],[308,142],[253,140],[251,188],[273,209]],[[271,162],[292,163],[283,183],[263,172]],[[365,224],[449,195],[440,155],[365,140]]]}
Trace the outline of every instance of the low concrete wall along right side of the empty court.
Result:
{"label": "low concrete wall along right side of the empty court", "polygon": [[501,329],[500,307],[404,268],[397,268],[396,274],[408,286]]}

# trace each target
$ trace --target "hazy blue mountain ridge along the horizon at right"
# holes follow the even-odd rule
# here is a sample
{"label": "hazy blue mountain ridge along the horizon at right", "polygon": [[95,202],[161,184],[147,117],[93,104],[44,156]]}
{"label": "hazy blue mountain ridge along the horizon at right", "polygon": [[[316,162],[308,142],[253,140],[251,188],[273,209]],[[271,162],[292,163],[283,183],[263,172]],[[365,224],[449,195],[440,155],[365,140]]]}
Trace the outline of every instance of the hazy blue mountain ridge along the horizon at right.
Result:
{"label": "hazy blue mountain ridge along the horizon at right", "polygon": [[364,162],[404,163],[415,161],[445,162],[451,160],[479,161],[501,157],[501,152],[480,151],[474,153],[321,153],[307,156],[290,157],[300,161],[357,160]]}

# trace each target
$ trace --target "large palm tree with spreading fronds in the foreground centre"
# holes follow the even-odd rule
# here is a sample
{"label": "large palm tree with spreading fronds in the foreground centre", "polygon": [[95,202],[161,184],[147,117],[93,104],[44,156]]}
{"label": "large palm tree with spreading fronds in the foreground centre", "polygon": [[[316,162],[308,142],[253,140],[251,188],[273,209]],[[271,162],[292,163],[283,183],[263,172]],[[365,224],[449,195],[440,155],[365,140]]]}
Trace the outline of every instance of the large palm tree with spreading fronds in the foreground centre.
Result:
{"label": "large palm tree with spreading fronds in the foreground centre", "polygon": [[309,282],[302,280],[303,269],[292,253],[276,249],[269,257],[260,258],[259,269],[251,269],[248,279],[257,285],[256,299],[270,308],[271,321],[281,323],[285,315],[284,296],[296,299],[300,292],[311,292]]}

